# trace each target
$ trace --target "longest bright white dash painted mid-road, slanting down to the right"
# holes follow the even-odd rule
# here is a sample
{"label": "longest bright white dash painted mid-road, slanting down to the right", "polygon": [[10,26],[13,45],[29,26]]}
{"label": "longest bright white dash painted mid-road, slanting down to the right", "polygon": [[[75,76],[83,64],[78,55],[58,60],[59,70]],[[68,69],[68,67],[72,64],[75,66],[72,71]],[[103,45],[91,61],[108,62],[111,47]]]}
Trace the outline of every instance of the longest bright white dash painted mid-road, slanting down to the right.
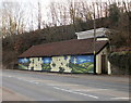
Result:
{"label": "longest bright white dash painted mid-road, slanting down to the right", "polygon": [[58,87],[53,87],[53,88],[55,88],[55,89],[58,89],[58,90],[62,90],[62,91],[75,93],[75,94],[81,94],[81,95],[85,95],[85,96],[98,99],[98,96],[95,96],[95,95],[92,95],[92,94],[85,94],[85,93],[82,93],[82,92],[75,92],[75,91],[72,91],[72,90],[67,90],[67,89],[62,89],[62,88],[58,88]]}

